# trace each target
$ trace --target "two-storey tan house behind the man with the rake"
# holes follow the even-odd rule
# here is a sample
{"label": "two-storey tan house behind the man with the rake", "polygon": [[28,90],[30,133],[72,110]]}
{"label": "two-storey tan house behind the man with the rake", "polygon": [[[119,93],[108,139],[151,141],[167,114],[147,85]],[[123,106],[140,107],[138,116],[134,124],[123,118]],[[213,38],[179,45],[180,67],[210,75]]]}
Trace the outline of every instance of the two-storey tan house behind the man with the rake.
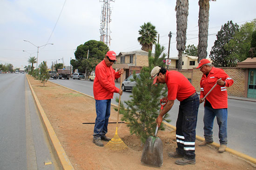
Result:
{"label": "two-storey tan house behind the man with the rake", "polygon": [[120,52],[116,56],[116,60],[116,63],[112,67],[116,70],[124,69],[124,80],[133,74],[134,71],[135,73],[140,73],[142,67],[148,67],[148,52],[143,50]]}

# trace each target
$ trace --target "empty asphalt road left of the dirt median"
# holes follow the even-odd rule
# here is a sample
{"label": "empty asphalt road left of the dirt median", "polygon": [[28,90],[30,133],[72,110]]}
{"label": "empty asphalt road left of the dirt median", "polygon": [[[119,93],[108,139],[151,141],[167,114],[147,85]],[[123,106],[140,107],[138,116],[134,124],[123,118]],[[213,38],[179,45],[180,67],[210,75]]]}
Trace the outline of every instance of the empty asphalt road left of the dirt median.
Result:
{"label": "empty asphalt road left of the dirt median", "polygon": [[26,75],[0,74],[0,170],[56,170],[49,148]]}

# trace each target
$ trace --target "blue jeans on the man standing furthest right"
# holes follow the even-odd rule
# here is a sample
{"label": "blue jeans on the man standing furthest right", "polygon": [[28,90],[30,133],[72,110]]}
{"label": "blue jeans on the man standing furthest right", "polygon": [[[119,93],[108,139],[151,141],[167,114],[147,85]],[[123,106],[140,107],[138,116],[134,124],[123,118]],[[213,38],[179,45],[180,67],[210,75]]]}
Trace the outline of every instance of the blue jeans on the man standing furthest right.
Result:
{"label": "blue jeans on the man standing furthest right", "polygon": [[228,109],[214,109],[212,107],[204,107],[204,139],[209,142],[213,142],[212,138],[212,128],[215,117],[217,118],[217,123],[219,125],[219,139],[221,145],[227,145],[228,135],[227,135],[227,119],[228,119]]}

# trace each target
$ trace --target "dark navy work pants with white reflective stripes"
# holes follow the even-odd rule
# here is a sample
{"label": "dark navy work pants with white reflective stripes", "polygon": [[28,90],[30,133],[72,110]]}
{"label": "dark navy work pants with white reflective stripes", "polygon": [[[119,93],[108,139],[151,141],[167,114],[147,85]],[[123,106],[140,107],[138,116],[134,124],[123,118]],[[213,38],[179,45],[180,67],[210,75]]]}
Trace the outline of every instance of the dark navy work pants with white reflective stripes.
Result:
{"label": "dark navy work pants with white reflective stripes", "polygon": [[197,94],[181,101],[176,122],[176,152],[189,160],[195,160],[195,128],[199,104]]}

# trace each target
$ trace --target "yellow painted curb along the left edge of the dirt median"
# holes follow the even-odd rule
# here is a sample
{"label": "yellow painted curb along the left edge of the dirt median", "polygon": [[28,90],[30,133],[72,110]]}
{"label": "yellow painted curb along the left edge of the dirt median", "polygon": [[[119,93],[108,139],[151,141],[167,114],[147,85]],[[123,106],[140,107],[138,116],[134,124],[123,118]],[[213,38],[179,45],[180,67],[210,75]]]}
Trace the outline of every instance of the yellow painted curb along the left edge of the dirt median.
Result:
{"label": "yellow painted curb along the left edge of the dirt median", "polygon": [[[27,75],[26,75],[26,77],[27,77]],[[64,151],[59,139],[57,138],[57,135],[54,132],[54,129],[53,129],[52,125],[50,124],[36,94],[34,93],[34,89],[32,88],[28,78],[27,78],[27,82],[28,82],[31,92],[34,96],[34,100],[35,100],[36,106],[38,108],[38,111],[40,113],[41,119],[43,121],[43,125],[44,125],[46,131],[48,132],[47,133],[48,139],[53,147],[54,155],[56,156],[56,160],[58,161],[59,167],[62,170],[74,170],[74,167],[70,163],[66,152]]]}

